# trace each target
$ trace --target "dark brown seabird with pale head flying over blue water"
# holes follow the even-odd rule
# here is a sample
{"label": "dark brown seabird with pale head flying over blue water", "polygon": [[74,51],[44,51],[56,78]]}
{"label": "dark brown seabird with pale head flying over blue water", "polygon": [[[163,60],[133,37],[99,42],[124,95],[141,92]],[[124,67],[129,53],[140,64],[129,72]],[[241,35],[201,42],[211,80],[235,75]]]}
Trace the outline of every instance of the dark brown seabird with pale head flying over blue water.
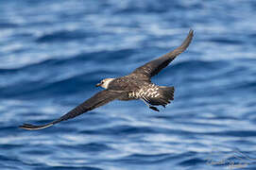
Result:
{"label": "dark brown seabird with pale head flying over blue water", "polygon": [[45,125],[31,125],[23,124],[20,128],[28,130],[43,129],[51,127],[62,121],[72,119],[78,115],[98,107],[106,105],[107,103],[117,100],[142,100],[145,105],[155,111],[159,111],[157,106],[165,108],[172,100],[174,100],[174,87],[159,86],[151,82],[151,77],[158,75],[163,68],[176,59],[180,53],[185,51],[192,42],[194,30],[190,29],[186,39],[173,51],[165,55],[146,62],[144,65],[136,68],[128,76],[105,78],[97,83],[96,87],[102,87],[104,90],[95,93],[94,96],[87,99],[75,109],[68,111],[60,118],[45,124]]}

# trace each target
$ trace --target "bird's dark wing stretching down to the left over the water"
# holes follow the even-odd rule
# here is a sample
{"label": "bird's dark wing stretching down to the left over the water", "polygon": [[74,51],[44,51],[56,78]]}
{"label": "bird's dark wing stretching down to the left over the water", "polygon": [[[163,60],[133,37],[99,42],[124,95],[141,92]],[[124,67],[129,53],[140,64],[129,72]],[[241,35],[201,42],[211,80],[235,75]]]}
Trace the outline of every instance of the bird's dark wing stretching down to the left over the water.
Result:
{"label": "bird's dark wing stretching down to the left over the water", "polygon": [[99,93],[94,94],[93,97],[89,98],[85,102],[78,105],[75,109],[70,110],[68,113],[64,114],[59,119],[57,119],[53,122],[50,122],[50,123],[42,125],[42,126],[34,126],[34,125],[24,124],[23,126],[20,126],[20,127],[25,128],[25,129],[29,129],[29,130],[51,127],[54,124],[60,123],[61,121],[72,119],[72,118],[77,117],[78,115],[80,115],[80,114],[82,114],[86,111],[94,110],[95,108],[106,105],[107,103],[116,99],[122,93],[124,93],[124,92],[104,90],[104,91],[101,91]]}

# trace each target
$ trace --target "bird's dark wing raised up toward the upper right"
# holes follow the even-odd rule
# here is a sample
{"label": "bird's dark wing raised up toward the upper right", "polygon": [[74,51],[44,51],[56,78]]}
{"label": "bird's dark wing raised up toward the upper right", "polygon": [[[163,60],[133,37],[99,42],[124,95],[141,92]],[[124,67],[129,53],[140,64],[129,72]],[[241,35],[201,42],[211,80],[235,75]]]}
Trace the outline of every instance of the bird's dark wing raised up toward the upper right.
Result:
{"label": "bird's dark wing raised up toward the upper right", "polygon": [[137,68],[134,70],[130,75],[144,75],[147,77],[157,75],[163,68],[165,68],[173,59],[175,59],[180,53],[185,51],[185,49],[189,46],[190,42],[192,41],[194,35],[194,31],[191,29],[187,38],[181,45],[176,48],[175,50],[163,55],[158,59],[151,60],[145,65]]}

